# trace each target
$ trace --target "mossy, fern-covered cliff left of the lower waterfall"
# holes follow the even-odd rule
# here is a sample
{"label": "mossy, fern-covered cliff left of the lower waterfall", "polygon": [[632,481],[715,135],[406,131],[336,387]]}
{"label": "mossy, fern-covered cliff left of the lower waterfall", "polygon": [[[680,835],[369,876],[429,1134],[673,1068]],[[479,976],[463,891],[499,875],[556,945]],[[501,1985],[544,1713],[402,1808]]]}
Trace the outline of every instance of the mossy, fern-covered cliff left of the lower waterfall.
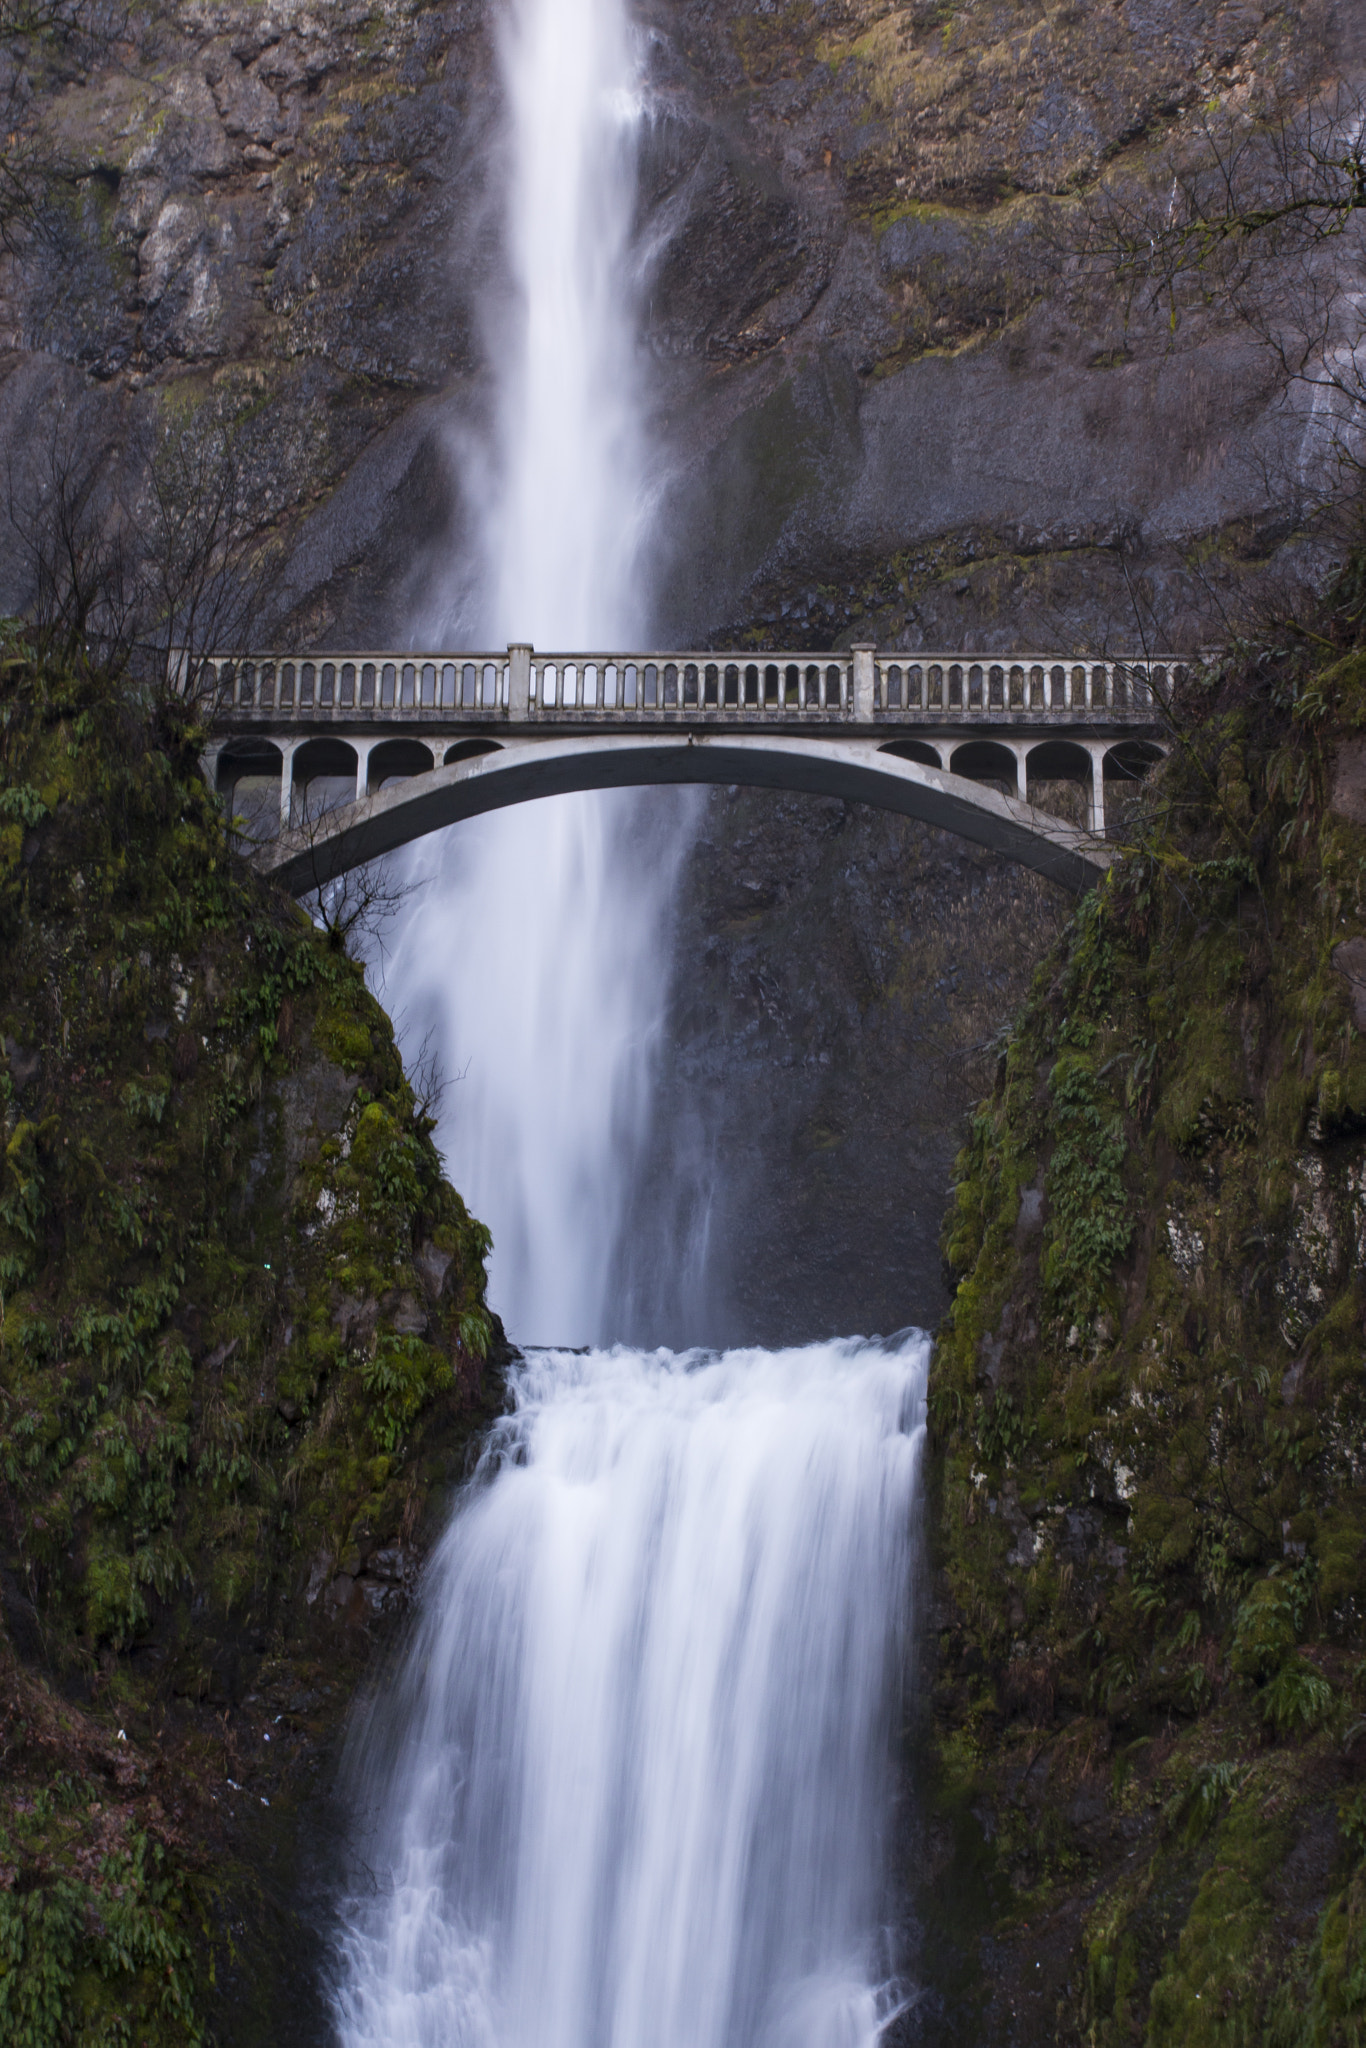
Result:
{"label": "mossy, fern-covered cliff left of the lower waterfall", "polygon": [[[281,2040],[266,1872],[471,1436],[487,1231],[178,705],[0,641],[0,2038]],[[297,1997],[291,2011],[299,2011]]]}

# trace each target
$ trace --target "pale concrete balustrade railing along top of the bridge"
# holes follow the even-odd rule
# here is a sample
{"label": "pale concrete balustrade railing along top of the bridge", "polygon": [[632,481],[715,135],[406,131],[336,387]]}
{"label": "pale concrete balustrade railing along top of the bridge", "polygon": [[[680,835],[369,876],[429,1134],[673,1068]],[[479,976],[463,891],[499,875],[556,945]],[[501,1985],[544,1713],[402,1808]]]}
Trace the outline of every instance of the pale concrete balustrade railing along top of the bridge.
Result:
{"label": "pale concrete balustrade railing along top of the bridge", "polygon": [[193,680],[219,717],[381,723],[442,719],[801,723],[1153,717],[1176,659],[991,653],[502,653],[365,651],[211,657]]}

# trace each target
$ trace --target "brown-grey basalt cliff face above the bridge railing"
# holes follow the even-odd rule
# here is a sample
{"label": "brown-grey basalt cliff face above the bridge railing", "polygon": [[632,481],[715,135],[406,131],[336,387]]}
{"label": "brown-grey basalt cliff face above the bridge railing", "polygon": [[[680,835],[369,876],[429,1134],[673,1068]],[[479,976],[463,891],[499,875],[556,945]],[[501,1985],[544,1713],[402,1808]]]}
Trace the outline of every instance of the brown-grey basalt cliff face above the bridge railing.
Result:
{"label": "brown-grey basalt cliff face above the bridge railing", "polygon": [[[1210,98],[1352,70],[1360,10],[713,0],[641,27],[664,637],[1190,645],[1210,578],[1296,567],[1266,479],[1303,422],[1264,356],[1216,313],[1173,344],[1073,307],[1059,233]],[[127,442],[209,408],[287,543],[262,625],[438,631],[502,276],[489,10],[74,6],[6,35],[0,92],[20,481],[57,422]],[[23,602],[23,551],[0,580]]]}

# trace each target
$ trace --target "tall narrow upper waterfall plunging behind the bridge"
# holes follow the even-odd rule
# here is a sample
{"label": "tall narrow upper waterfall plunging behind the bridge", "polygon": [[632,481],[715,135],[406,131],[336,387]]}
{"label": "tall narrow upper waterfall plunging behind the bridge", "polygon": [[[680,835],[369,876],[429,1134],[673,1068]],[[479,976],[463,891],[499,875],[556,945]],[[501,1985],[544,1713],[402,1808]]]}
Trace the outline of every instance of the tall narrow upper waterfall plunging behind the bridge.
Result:
{"label": "tall narrow upper waterfall plunging behind the bridge", "polygon": [[[477,559],[438,629],[463,645],[641,645],[641,74],[625,6],[514,0],[500,72],[508,279],[485,307],[496,420],[487,442],[459,451]],[[453,1085],[438,1143],[494,1233],[492,1300],[516,1341],[625,1333],[612,1276],[696,815],[692,791],[553,797],[463,823],[410,860],[420,887],[385,981],[410,1040],[430,1030],[442,1049]],[[686,1260],[688,1245],[661,1257]]]}

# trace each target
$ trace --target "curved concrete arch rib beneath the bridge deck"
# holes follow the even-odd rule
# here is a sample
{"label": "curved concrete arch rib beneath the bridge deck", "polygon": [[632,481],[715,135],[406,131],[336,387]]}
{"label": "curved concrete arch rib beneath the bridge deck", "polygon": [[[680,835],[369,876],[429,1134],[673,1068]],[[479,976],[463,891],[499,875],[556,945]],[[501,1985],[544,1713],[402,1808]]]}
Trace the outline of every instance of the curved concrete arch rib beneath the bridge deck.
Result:
{"label": "curved concrete arch rib beneath the bridge deck", "polygon": [[1092,834],[983,782],[891,754],[881,735],[633,733],[496,743],[494,752],[410,774],[281,831],[260,844],[256,860],[303,895],[463,817],[567,791],[664,782],[735,782],[872,803],[956,831],[1067,889],[1087,889],[1112,858]]}

